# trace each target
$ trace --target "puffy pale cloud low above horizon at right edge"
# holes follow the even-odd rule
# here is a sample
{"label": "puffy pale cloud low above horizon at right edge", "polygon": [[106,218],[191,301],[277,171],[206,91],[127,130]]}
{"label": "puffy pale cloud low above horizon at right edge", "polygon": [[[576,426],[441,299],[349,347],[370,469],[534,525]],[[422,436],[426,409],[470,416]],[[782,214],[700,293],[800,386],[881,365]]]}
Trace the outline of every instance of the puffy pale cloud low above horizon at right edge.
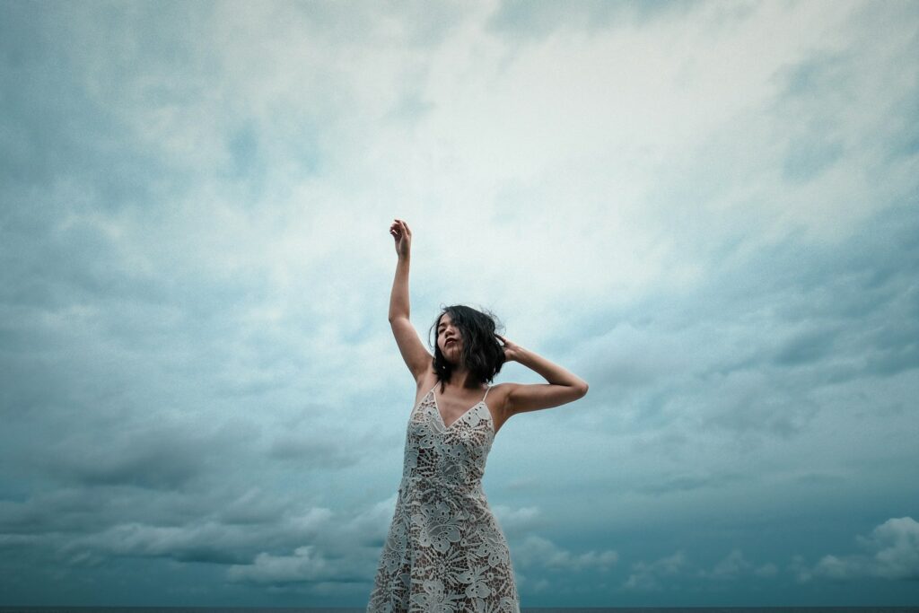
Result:
{"label": "puffy pale cloud low above horizon at right edge", "polygon": [[913,517],[891,517],[867,537],[858,536],[866,553],[828,554],[812,567],[794,565],[801,582],[814,579],[854,581],[863,577],[919,580],[919,522]]}

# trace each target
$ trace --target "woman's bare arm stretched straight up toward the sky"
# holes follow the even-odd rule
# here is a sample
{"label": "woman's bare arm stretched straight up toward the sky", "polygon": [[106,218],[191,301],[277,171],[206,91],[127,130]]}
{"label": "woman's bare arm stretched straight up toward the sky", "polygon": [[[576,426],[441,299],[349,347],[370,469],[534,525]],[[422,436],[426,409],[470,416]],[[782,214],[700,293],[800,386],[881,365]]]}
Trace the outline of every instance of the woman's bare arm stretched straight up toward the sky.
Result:
{"label": "woman's bare arm stretched straight up toward the sky", "polygon": [[412,231],[405,221],[395,220],[390,226],[390,233],[399,256],[390,294],[390,326],[405,366],[412,371],[415,382],[420,383],[425,372],[431,368],[434,357],[422,345],[414,325],[409,321],[408,271],[412,260]]}

